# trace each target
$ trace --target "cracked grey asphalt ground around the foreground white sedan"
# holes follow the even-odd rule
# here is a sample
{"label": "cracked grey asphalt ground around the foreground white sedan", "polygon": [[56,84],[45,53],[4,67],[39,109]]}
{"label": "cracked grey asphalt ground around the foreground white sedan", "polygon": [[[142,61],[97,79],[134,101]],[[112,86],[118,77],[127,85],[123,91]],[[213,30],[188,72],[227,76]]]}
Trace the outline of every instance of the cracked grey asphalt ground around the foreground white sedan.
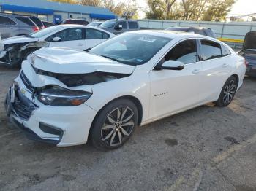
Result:
{"label": "cracked grey asphalt ground around the foreground white sedan", "polygon": [[0,67],[0,190],[256,190],[256,79],[226,108],[167,117],[101,152],[26,139],[4,112],[17,75]]}

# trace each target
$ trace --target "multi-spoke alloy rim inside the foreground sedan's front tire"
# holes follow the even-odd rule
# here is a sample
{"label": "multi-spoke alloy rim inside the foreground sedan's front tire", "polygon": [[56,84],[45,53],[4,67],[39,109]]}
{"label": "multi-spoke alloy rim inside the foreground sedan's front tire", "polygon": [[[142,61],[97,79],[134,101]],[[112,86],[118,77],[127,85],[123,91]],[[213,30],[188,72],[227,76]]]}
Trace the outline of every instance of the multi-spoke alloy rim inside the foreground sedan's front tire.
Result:
{"label": "multi-spoke alloy rim inside the foreground sedan's front tire", "polygon": [[113,109],[102,125],[102,141],[113,147],[120,145],[130,136],[135,127],[133,116],[134,112],[128,106]]}

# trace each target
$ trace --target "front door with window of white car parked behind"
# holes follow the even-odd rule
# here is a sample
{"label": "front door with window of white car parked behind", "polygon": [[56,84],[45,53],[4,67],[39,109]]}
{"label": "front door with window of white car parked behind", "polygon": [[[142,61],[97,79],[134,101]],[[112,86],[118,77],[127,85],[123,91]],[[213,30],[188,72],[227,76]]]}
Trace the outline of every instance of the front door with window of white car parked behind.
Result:
{"label": "front door with window of white car parked behind", "polygon": [[[53,39],[59,37],[60,41],[55,42]],[[50,42],[50,47],[68,47],[75,50],[85,50],[85,37],[83,28],[67,28],[45,39]]]}

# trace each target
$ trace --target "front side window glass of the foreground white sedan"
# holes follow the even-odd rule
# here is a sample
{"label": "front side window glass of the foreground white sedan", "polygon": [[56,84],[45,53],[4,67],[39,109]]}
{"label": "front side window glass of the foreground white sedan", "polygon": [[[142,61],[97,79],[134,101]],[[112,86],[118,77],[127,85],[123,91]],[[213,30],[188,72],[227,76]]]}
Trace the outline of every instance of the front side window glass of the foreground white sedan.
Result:
{"label": "front side window glass of the foreground white sedan", "polygon": [[165,55],[165,61],[180,61],[182,63],[197,62],[197,44],[195,39],[185,40],[173,47],[170,52]]}

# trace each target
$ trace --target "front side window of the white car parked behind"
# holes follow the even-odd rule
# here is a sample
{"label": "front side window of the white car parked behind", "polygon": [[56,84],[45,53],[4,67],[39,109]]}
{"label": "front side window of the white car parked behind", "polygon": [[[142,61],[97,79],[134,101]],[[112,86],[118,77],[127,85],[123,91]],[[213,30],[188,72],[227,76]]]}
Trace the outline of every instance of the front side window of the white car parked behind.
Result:
{"label": "front side window of the white car parked behind", "polygon": [[83,28],[68,28],[63,31],[59,31],[56,34],[45,39],[47,42],[53,42],[54,37],[61,38],[61,42],[64,41],[74,41],[74,40],[82,40],[83,39]]}

